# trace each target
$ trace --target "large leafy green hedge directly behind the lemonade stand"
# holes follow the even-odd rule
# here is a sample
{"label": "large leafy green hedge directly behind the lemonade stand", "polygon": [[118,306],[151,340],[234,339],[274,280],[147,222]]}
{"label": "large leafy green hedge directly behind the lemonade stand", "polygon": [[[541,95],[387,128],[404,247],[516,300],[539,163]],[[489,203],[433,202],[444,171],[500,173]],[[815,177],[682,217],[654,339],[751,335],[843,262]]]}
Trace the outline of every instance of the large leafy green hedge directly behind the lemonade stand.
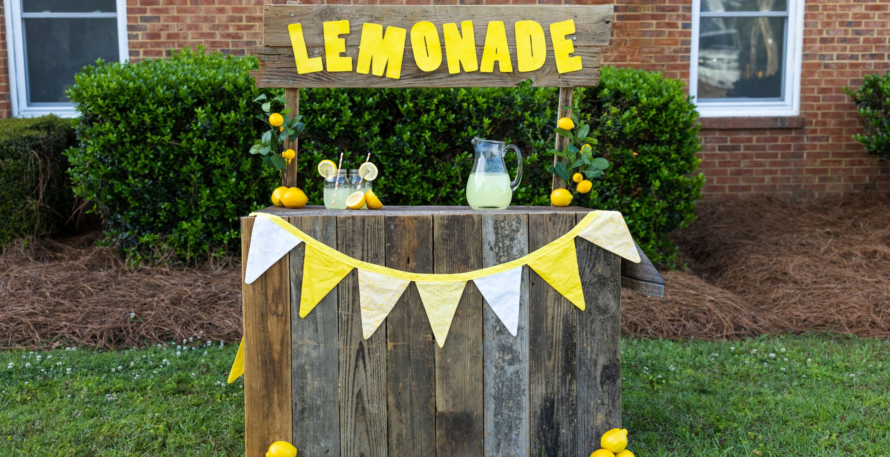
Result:
{"label": "large leafy green hedge directly behind the lemonade stand", "polygon": [[[77,76],[69,96],[84,113],[77,130],[84,146],[69,152],[71,175],[77,195],[106,220],[109,244],[133,253],[173,248],[186,259],[238,251],[238,217],[267,205],[279,185],[247,154],[263,130],[250,102],[260,93],[247,76],[252,68],[253,58],[186,50],[166,60],[100,63]],[[576,95],[614,165],[573,203],[624,212],[653,261],[672,266],[676,246],[667,234],[692,220],[703,185],[693,173],[699,142],[682,84],[603,68],[601,85]],[[384,204],[465,204],[470,140],[478,135],[523,149],[514,204],[549,204],[553,156],[543,151],[554,143],[555,109],[556,91],[530,84],[303,90],[297,185],[310,204],[322,204],[316,164],[343,152],[344,167],[354,167],[371,153]],[[514,163],[511,154],[511,173]]]}

